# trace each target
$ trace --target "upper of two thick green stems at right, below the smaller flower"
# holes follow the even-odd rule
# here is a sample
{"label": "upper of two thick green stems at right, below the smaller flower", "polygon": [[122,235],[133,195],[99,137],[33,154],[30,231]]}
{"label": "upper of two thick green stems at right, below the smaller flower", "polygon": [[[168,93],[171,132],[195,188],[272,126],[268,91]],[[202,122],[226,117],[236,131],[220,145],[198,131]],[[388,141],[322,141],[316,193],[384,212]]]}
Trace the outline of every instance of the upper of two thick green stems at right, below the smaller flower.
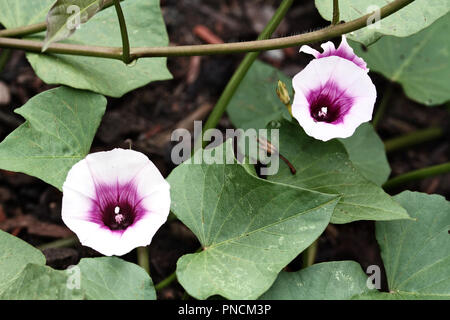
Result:
{"label": "upper of two thick green stems at right, below the smaller flower", "polygon": [[439,127],[418,130],[401,137],[392,138],[384,142],[386,152],[393,152],[405,149],[420,143],[440,138],[444,135],[444,130]]}

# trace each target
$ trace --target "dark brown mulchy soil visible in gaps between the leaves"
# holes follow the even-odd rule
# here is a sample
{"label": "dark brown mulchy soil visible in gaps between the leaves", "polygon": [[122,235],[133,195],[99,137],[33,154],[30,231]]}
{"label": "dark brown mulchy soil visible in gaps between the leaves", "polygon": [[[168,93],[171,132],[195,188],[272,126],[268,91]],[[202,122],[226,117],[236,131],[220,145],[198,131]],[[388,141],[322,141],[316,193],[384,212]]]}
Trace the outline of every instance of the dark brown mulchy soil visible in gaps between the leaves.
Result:
{"label": "dark brown mulchy soil visible in gaps between the leaves", "polygon": [[[204,43],[193,32],[199,24],[208,27],[225,42],[255,39],[279,2],[163,0],[162,8],[171,43],[182,45]],[[312,0],[297,1],[275,36],[302,33],[325,25],[327,22],[317,13]],[[264,53],[261,59],[292,76],[309,59],[306,55],[297,54],[297,51],[298,48],[294,48]],[[168,157],[170,143],[164,133],[202,106],[214,105],[242,57],[226,55],[168,59],[173,80],[151,83],[120,99],[108,98],[108,110],[94,139],[92,151],[127,147],[131,141],[135,149],[145,152],[167,176],[174,165]],[[388,83],[379,75],[371,75],[378,91],[383,92]],[[7,88],[10,101],[0,105],[0,140],[23,122],[13,110],[34,95],[51,88],[36,77],[20,51],[13,51],[0,73],[1,84]],[[205,112],[200,114],[204,119]],[[404,96],[400,86],[395,86],[395,94],[380,124],[379,133],[383,139],[388,139],[431,125],[448,128],[448,114],[444,106],[427,108],[412,102]],[[226,116],[220,127],[232,127]],[[392,175],[449,161],[449,153],[449,139],[445,137],[389,154]],[[410,183],[405,189],[437,193],[449,199],[449,178],[449,175],[430,178]],[[400,191],[395,190],[394,193]],[[61,198],[62,194],[57,189],[36,178],[0,170],[0,226],[32,245],[70,235],[60,216]],[[33,228],[38,223],[44,224],[45,232],[42,228]],[[374,223],[367,221],[329,226],[319,240],[317,262],[355,260],[364,270],[372,264],[382,266],[374,230]],[[172,273],[178,258],[194,252],[198,247],[195,236],[181,222],[175,220],[163,226],[150,245],[153,281],[158,283]],[[76,264],[82,257],[99,255],[80,245],[47,249],[44,253],[47,264],[59,269]],[[132,252],[124,259],[135,262],[136,253]],[[288,266],[288,270],[298,270],[300,265],[299,257]],[[179,299],[182,295],[183,290],[178,284],[159,293],[163,299]]]}

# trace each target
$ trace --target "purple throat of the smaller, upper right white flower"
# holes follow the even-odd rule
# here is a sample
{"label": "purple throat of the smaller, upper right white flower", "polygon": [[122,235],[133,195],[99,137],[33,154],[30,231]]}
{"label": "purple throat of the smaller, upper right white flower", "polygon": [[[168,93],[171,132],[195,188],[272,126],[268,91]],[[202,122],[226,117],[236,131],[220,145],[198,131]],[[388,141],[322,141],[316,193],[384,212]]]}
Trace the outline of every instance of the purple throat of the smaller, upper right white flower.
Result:
{"label": "purple throat of the smaller, upper right white flower", "polygon": [[342,123],[353,105],[353,98],[332,81],[311,90],[306,98],[311,117],[317,122]]}

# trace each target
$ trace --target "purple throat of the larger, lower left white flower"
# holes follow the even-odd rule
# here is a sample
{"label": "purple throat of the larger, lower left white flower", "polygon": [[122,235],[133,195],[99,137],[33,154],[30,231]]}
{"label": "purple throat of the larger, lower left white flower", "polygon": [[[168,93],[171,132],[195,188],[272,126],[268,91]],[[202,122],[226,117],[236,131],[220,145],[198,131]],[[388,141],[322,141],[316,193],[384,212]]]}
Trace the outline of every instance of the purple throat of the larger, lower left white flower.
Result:
{"label": "purple throat of the larger, lower left white flower", "polygon": [[104,227],[123,232],[137,222],[145,209],[133,182],[126,184],[98,184],[96,199],[92,202],[91,219]]}

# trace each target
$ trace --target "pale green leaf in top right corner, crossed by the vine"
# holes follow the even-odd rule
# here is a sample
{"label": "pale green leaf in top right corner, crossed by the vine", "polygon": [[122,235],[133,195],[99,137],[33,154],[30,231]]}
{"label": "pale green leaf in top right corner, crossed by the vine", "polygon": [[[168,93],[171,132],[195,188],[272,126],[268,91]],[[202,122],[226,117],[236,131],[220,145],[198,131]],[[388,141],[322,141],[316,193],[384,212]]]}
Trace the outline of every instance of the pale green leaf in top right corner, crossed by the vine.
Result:
{"label": "pale green leaf in top right corner, crossed by the vine", "polygon": [[[392,2],[392,1],[389,1]],[[372,13],[388,4],[386,0],[340,0],[340,20],[351,21]],[[328,21],[333,17],[333,1],[316,0],[320,15]],[[351,32],[348,37],[366,46],[374,43],[383,35],[396,37],[410,36],[432,24],[450,10],[450,0],[415,0],[396,13],[379,21],[378,25],[369,25]],[[375,16],[374,16],[375,17]],[[373,19],[369,23],[375,22]]]}

